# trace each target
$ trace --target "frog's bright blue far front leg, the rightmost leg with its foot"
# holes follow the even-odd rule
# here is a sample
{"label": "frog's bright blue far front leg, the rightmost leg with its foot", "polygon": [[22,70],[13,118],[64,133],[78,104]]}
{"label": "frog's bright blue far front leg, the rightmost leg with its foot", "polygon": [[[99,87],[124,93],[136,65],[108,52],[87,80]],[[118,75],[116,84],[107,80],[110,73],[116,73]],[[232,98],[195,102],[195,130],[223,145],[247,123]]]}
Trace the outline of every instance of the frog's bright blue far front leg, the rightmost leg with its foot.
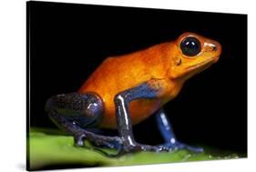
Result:
{"label": "frog's bright blue far front leg, the rightmost leg with its foot", "polygon": [[171,124],[169,123],[168,117],[166,116],[162,108],[155,113],[155,116],[159,126],[159,131],[165,140],[165,144],[163,145],[163,147],[169,147],[169,150],[186,148],[193,152],[203,152],[203,148],[190,147],[177,141]]}

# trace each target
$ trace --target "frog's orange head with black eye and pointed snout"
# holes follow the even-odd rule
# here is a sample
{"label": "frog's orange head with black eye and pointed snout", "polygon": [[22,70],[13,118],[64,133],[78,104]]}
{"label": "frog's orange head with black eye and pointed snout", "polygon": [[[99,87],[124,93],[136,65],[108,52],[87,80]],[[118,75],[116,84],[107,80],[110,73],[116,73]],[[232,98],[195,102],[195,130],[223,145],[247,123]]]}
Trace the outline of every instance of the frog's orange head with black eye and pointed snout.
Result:
{"label": "frog's orange head with black eye and pointed snout", "polygon": [[218,42],[193,33],[185,33],[174,42],[171,79],[187,80],[219,60],[221,46]]}

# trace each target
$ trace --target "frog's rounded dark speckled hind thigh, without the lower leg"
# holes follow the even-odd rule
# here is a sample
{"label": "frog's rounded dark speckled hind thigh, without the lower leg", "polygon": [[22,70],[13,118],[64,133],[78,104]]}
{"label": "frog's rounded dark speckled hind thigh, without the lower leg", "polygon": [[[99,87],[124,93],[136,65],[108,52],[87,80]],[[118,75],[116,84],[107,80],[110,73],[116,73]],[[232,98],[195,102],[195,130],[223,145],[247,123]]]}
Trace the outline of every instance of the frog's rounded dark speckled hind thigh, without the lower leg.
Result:
{"label": "frog's rounded dark speckled hind thigh, without the lower leg", "polygon": [[53,109],[81,127],[97,126],[103,115],[102,100],[94,93],[52,96],[46,103],[46,111]]}

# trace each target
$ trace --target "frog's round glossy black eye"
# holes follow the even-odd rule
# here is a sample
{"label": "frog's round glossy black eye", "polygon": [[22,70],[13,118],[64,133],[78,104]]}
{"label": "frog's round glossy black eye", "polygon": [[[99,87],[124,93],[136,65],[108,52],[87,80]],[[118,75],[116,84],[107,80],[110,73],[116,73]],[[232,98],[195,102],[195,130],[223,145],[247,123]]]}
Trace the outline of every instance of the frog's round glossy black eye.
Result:
{"label": "frog's round glossy black eye", "polygon": [[186,37],[181,41],[180,49],[185,56],[196,56],[201,51],[200,41],[193,36]]}

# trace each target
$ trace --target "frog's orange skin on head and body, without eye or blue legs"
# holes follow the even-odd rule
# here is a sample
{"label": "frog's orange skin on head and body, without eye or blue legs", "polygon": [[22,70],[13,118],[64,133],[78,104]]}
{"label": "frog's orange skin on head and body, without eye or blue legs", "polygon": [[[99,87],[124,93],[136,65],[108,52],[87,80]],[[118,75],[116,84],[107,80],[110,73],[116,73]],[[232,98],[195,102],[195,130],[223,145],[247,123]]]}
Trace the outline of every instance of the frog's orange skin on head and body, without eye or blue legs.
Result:
{"label": "frog's orange skin on head and body, without eye or blue legs", "polygon": [[[129,113],[132,124],[135,125],[178,95],[184,81],[198,72],[191,69],[189,71],[190,66],[210,66],[218,60],[220,48],[218,52],[211,52],[210,47],[210,44],[219,46],[218,43],[199,35],[197,36],[203,52],[196,57],[184,56],[179,44],[182,38],[188,35],[190,34],[181,35],[177,41],[152,46],[125,56],[108,57],[97,67],[79,92],[94,92],[103,99],[105,112],[99,126],[117,127],[114,97],[119,92],[150,79],[159,80],[156,85],[164,89],[157,98],[138,99],[130,103]],[[208,60],[211,60],[210,63],[207,63]]]}

